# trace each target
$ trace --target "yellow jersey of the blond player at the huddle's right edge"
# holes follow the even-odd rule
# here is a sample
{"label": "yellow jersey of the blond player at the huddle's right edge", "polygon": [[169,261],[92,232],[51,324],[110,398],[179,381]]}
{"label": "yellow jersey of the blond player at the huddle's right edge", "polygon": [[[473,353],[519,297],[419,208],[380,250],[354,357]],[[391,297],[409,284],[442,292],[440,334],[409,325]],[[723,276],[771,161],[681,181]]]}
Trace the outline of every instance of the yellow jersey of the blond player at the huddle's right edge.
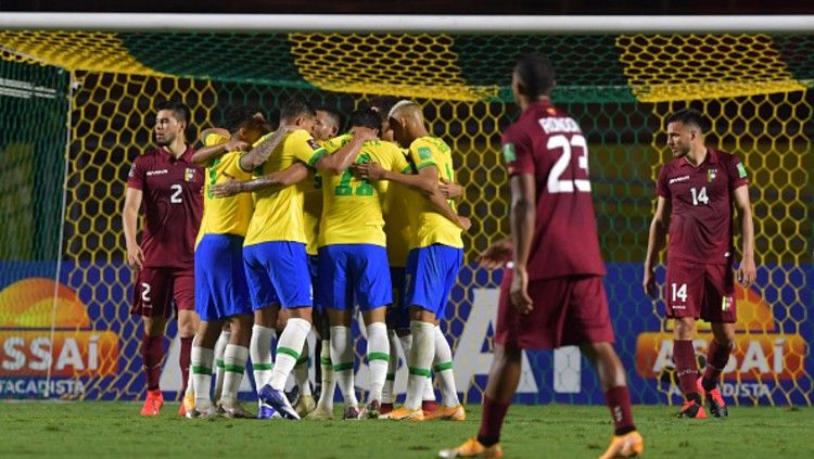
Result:
{"label": "yellow jersey of the blond player at the huddle's right edge", "polygon": [[[438,169],[440,183],[442,178],[455,181],[451,150],[437,137],[424,136],[414,140],[410,143],[409,155],[418,170],[435,166]],[[455,209],[455,201],[448,202]],[[463,248],[463,241],[460,238],[461,229],[440,214],[423,194],[408,193],[407,208],[412,227],[410,248],[432,244]]]}

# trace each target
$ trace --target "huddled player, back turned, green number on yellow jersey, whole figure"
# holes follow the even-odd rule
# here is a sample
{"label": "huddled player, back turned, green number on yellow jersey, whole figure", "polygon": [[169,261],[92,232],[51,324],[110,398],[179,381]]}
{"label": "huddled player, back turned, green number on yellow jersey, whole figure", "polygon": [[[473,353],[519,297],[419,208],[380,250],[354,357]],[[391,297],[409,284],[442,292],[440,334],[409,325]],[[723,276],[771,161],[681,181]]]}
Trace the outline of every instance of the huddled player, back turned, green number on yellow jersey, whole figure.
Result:
{"label": "huddled player, back turned, green number on yellow jersey, whole figure", "polygon": [[[376,162],[395,171],[409,168],[395,144],[377,138],[381,122],[376,112],[355,111],[349,125],[351,132],[326,142],[329,154],[364,136],[367,140],[357,163]],[[392,302],[381,207],[383,187],[356,178],[351,170],[323,177],[317,297],[328,311],[333,373],[345,399],[343,418],[378,418],[390,357],[384,318]],[[370,393],[363,412],[354,388],[351,335],[356,305],[365,319],[370,368]]]}

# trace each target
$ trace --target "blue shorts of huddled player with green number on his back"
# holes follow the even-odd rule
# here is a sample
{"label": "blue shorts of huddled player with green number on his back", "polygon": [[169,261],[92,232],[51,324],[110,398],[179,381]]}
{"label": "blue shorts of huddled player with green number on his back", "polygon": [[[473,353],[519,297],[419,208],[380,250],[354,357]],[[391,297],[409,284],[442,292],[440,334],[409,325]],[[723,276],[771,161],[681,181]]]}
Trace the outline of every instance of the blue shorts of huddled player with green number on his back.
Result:
{"label": "blue shorts of huddled player with green number on his back", "polygon": [[393,301],[387,250],[373,244],[319,247],[318,302],[331,309],[371,310]]}

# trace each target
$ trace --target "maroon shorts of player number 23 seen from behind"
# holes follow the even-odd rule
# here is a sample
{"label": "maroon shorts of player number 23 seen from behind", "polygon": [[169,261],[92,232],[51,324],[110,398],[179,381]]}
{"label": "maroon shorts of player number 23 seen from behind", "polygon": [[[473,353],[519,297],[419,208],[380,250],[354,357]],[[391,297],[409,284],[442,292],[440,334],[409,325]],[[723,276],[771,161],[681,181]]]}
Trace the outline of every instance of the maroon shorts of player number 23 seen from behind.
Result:
{"label": "maroon shorts of player number 23 seen from behind", "polygon": [[600,276],[529,282],[532,311],[523,316],[509,301],[511,271],[500,284],[495,342],[504,346],[551,349],[585,343],[613,343],[608,296]]}

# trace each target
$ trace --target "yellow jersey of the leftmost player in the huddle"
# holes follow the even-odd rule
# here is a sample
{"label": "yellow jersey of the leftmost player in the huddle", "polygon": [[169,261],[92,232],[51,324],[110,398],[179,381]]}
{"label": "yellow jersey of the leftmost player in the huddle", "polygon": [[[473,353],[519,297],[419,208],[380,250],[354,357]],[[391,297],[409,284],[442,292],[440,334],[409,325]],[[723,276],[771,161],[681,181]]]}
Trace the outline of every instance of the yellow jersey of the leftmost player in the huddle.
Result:
{"label": "yellow jersey of the leftmost player in the huddle", "polygon": [[[227,141],[226,137],[209,133],[204,139],[204,145],[213,146]],[[240,168],[240,151],[228,152],[216,157],[206,166],[204,181],[204,213],[201,229],[198,231],[196,243],[204,234],[234,234],[245,235],[249,220],[252,218],[252,196],[240,193],[229,197],[215,197],[212,187],[230,179],[249,180],[252,174]]]}

